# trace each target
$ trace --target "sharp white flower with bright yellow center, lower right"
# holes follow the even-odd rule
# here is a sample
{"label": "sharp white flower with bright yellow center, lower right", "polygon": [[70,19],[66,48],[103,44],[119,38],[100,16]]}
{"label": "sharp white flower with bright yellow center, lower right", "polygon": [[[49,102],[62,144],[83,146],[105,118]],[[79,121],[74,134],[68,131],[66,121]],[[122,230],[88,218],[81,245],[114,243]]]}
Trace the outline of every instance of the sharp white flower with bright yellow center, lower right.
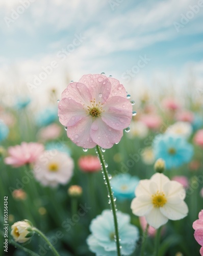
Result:
{"label": "sharp white flower with bright yellow center, lower right", "polygon": [[144,216],[147,223],[159,228],[168,220],[180,220],[187,216],[188,206],[182,184],[170,181],[156,173],[150,180],[141,180],[135,190],[136,198],[131,203],[133,214]]}

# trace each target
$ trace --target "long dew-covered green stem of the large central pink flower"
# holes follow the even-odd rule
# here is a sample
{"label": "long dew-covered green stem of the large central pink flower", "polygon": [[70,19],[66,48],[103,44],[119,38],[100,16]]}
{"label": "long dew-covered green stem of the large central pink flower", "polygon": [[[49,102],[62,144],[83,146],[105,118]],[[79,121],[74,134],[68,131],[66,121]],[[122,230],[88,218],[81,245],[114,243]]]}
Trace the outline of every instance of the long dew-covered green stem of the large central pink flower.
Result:
{"label": "long dew-covered green stem of the large central pink flower", "polygon": [[114,202],[114,198],[113,198],[113,191],[111,189],[111,184],[110,184],[110,180],[109,180],[109,176],[108,176],[108,172],[107,169],[105,167],[105,162],[102,156],[102,152],[100,150],[100,147],[98,145],[96,145],[96,150],[97,150],[97,154],[99,157],[99,160],[102,164],[103,167],[103,172],[104,172],[104,176],[105,176],[105,180],[107,182],[107,188],[108,188],[108,192],[109,192],[109,196],[110,196],[110,200],[111,200],[111,209],[113,212],[113,218],[114,218],[114,228],[115,228],[115,236],[116,236],[116,247],[117,247],[117,255],[120,256],[120,242],[119,242],[119,232],[118,232],[118,221],[117,221],[117,216],[116,216],[116,205]]}

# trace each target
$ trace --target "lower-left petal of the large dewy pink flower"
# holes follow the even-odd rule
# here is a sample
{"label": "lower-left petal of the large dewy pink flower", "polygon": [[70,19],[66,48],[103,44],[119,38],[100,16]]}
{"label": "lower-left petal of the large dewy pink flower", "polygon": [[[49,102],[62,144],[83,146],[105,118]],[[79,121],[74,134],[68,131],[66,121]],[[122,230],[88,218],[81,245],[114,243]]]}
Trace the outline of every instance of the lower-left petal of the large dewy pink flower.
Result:
{"label": "lower-left petal of the large dewy pink flower", "polygon": [[84,148],[92,148],[96,146],[95,141],[90,136],[90,130],[93,119],[91,117],[84,117],[77,124],[69,126],[67,129],[67,136],[78,146]]}

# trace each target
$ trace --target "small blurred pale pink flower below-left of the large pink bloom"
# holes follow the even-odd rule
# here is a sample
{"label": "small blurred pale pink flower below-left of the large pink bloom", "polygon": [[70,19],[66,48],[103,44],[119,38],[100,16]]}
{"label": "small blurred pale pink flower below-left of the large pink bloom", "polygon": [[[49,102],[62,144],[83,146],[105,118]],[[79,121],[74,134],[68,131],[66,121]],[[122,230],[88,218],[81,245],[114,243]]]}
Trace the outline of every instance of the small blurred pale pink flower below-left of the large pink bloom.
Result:
{"label": "small blurred pale pink flower below-left of the large pink bloom", "polygon": [[39,130],[38,133],[38,137],[42,140],[42,141],[46,141],[46,140],[54,140],[57,139],[61,134],[61,127],[56,124],[50,124],[46,127],[43,127]]}

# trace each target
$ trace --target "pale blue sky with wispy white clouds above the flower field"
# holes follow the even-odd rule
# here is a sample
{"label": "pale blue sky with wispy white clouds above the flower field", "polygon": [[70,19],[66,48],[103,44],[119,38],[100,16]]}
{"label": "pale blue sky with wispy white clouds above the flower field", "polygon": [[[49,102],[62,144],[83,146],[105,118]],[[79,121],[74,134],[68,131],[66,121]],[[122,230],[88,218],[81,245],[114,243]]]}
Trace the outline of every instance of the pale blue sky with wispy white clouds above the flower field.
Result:
{"label": "pale blue sky with wispy white clouds above the flower field", "polygon": [[60,91],[102,72],[133,93],[203,89],[202,14],[201,0],[1,0],[0,91]]}

